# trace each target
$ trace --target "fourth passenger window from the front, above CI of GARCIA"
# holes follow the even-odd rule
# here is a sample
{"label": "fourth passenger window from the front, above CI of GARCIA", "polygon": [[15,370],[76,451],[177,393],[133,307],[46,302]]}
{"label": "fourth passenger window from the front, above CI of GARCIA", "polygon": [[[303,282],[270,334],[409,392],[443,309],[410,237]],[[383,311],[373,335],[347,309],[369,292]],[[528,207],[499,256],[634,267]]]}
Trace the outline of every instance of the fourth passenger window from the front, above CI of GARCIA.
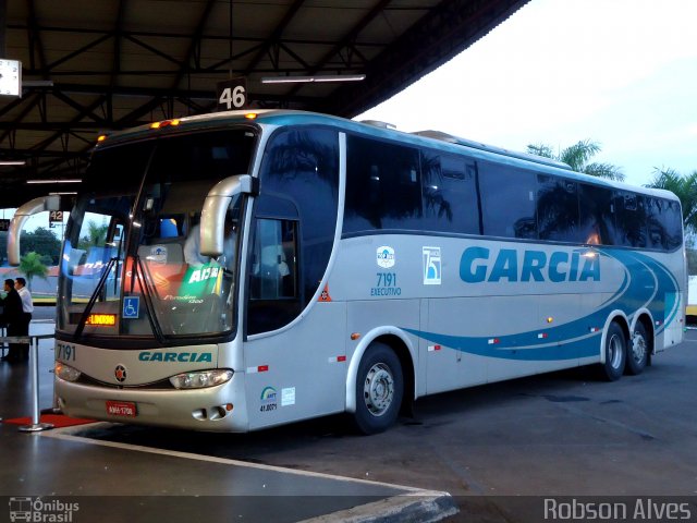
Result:
{"label": "fourth passenger window from the front, above CI of GARCIA", "polygon": [[563,178],[538,175],[537,224],[540,240],[586,241],[579,228],[578,184]]}

